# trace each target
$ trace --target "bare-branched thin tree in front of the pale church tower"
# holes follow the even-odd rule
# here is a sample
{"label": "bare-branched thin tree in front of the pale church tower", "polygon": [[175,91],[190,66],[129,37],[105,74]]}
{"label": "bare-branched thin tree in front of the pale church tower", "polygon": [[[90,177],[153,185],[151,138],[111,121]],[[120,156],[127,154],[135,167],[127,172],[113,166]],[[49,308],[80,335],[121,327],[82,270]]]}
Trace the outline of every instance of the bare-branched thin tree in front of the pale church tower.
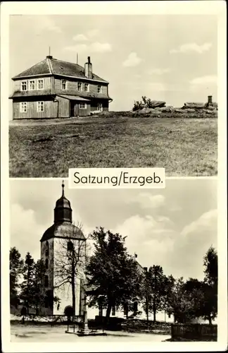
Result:
{"label": "bare-branched thin tree in front of the pale church tower", "polygon": [[54,263],[55,288],[71,287],[72,310],[75,316],[77,278],[83,279],[87,258],[87,238],[82,232],[82,225],[70,227],[64,238],[59,239]]}

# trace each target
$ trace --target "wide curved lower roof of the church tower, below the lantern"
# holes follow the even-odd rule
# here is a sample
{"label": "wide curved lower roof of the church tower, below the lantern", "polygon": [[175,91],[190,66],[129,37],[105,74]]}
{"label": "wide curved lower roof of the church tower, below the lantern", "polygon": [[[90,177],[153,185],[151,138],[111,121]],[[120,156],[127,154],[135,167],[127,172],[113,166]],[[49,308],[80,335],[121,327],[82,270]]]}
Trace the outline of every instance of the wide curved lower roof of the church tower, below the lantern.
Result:
{"label": "wide curved lower roof of the church tower, below the lantern", "polygon": [[53,224],[51,227],[46,229],[40,241],[46,241],[51,238],[85,240],[82,230],[70,222]]}

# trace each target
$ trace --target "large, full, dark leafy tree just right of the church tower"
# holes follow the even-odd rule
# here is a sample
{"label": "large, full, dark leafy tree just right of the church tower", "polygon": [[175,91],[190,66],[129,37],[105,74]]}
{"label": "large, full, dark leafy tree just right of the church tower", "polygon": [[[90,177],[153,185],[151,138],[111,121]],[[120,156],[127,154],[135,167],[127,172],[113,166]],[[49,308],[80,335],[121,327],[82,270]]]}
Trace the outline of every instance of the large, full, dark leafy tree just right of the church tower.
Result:
{"label": "large, full, dark leafy tree just right of the church tower", "polygon": [[92,289],[89,306],[98,305],[103,296],[108,321],[113,307],[125,308],[126,304],[129,307],[137,300],[141,275],[120,234],[99,227],[91,234],[91,239],[94,240],[94,253],[87,265],[87,286]]}

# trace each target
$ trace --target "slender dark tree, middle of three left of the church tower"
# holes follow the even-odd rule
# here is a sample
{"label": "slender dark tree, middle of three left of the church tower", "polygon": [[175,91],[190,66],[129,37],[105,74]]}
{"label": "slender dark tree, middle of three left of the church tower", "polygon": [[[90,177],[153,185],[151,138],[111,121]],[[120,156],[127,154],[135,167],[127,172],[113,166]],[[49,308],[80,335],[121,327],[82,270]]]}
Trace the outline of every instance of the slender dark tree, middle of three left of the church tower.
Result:
{"label": "slender dark tree, middle of three left of the church tower", "polygon": [[34,259],[28,252],[25,256],[25,263],[23,266],[23,282],[20,285],[20,298],[23,300],[23,304],[27,308],[27,314],[30,311],[30,306],[34,304],[34,268]]}

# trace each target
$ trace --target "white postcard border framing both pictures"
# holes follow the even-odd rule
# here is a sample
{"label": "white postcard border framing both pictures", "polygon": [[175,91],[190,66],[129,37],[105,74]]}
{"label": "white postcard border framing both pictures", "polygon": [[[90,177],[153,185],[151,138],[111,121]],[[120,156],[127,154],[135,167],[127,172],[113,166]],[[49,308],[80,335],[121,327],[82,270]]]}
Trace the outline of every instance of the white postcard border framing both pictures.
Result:
{"label": "white postcard border framing both pictures", "polygon": [[[8,249],[10,247],[9,227],[9,178],[8,178],[8,53],[9,15],[68,15],[68,14],[211,14],[219,19],[218,32],[218,77],[219,77],[219,117],[218,117],[218,253],[219,253],[219,301],[218,301],[218,341],[217,342],[118,342],[85,343],[13,343],[10,342],[9,328],[9,276]],[[194,25],[194,23],[193,23]],[[1,337],[3,352],[193,352],[224,351],[227,349],[227,129],[226,129],[226,3],[225,1],[93,1],[93,2],[4,2],[1,3]],[[4,148],[3,148],[4,146]],[[200,177],[196,177],[197,179]],[[24,178],[22,178],[24,179]],[[37,178],[40,180],[41,178]],[[52,178],[44,178],[49,179]],[[55,178],[62,179],[62,178]],[[179,179],[179,177],[169,178]],[[186,179],[195,179],[189,177]],[[204,179],[203,177],[201,179]],[[212,177],[211,179],[215,179]],[[197,201],[196,201],[197,202]],[[7,264],[7,265],[6,265]],[[222,279],[222,280],[221,280]],[[4,285],[3,285],[4,284]]]}

